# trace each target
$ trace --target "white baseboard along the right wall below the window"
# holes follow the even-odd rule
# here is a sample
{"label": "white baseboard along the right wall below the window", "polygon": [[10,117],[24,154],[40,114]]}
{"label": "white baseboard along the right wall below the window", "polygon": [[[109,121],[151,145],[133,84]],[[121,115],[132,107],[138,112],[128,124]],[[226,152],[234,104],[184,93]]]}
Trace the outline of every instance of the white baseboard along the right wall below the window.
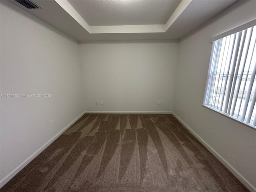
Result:
{"label": "white baseboard along the right wall below the window", "polygon": [[184,121],[182,121],[174,112],[172,114],[179,120],[180,123],[186,129],[191,132],[238,180],[250,190],[250,192],[256,192],[256,188],[248,181],[244,176],[242,176],[232,165],[230,165],[218,152],[216,152],[208,143],[206,143],[196,132],[194,132]]}

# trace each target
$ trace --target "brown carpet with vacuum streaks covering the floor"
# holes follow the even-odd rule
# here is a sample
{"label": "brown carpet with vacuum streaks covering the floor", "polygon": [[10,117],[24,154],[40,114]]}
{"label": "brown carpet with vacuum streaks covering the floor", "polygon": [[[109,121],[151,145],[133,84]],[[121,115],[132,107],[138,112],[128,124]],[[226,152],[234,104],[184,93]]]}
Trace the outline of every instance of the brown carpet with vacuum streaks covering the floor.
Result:
{"label": "brown carpet with vacuum streaks covering the floor", "polygon": [[85,114],[1,192],[248,191],[174,116]]}

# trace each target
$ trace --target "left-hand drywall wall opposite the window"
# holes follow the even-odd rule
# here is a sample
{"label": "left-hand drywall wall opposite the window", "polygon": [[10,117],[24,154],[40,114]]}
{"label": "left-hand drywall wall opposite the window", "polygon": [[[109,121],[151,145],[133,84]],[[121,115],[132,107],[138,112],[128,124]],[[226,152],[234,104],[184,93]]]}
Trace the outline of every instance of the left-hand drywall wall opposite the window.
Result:
{"label": "left-hand drywall wall opposite the window", "polygon": [[[83,111],[78,44],[1,1],[1,180]],[[54,126],[50,126],[50,121]]]}

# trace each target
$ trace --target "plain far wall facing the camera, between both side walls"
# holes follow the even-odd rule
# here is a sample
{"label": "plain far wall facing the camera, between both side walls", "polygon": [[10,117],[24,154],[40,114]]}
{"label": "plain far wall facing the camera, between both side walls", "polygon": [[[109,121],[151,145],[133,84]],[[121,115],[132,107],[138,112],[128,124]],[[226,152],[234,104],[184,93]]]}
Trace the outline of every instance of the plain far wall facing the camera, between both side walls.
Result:
{"label": "plain far wall facing the camera, between both side walls", "polygon": [[177,41],[81,43],[86,111],[172,111],[177,50]]}

